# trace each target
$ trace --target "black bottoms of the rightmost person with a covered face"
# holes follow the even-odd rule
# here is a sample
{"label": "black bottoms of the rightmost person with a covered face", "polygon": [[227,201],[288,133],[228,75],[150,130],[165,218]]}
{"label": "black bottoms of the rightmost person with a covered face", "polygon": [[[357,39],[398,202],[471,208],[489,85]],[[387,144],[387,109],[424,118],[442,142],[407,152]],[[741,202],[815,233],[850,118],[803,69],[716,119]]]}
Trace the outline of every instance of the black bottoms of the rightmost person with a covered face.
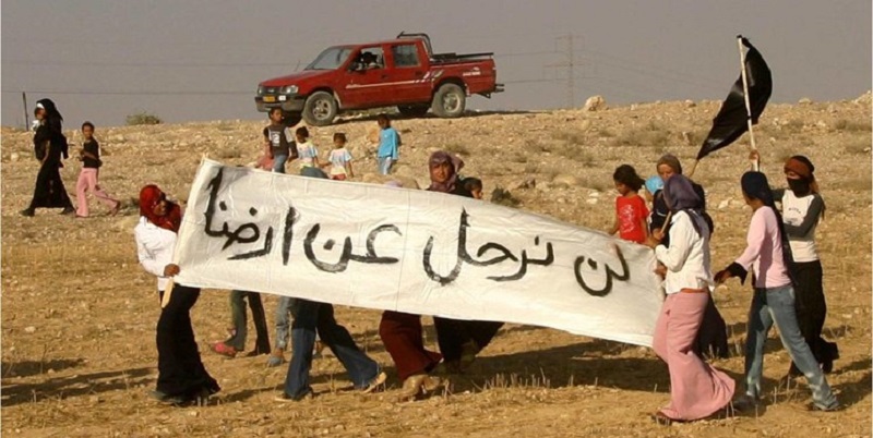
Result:
{"label": "black bottoms of the rightmost person with a covered face", "polygon": [[[825,341],[822,338],[822,328],[825,326],[827,316],[827,303],[822,285],[822,261],[801,261],[789,265],[791,276],[797,284],[794,285],[794,307],[798,314],[798,326],[800,333],[812,350],[812,354],[825,373],[829,373],[834,365],[834,360],[839,357],[837,344]],[[791,373],[797,367],[791,364]]]}

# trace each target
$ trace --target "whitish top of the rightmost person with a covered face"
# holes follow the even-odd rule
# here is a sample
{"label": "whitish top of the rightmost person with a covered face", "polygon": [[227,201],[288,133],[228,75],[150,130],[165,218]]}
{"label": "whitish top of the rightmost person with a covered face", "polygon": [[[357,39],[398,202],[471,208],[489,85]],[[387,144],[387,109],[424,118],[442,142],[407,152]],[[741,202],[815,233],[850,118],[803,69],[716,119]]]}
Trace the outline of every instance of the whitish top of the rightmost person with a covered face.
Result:
{"label": "whitish top of the rightmost person with a covered face", "polygon": [[[815,248],[815,227],[821,215],[821,199],[809,194],[797,197],[790,190],[782,194],[782,222],[788,233],[788,244],[794,261],[815,261],[818,251]],[[817,204],[817,205],[814,205]]]}

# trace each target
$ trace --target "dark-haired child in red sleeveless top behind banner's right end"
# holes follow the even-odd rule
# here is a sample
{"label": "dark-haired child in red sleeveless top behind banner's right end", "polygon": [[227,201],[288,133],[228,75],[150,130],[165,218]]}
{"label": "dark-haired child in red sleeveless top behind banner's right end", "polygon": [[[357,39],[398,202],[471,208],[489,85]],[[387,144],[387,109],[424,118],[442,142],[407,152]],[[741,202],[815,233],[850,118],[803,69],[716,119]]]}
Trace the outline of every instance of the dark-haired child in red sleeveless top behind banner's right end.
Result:
{"label": "dark-haired child in red sleeveless top behind banner's right end", "polygon": [[638,195],[643,179],[632,166],[621,165],[612,174],[612,180],[620,196],[615,198],[615,222],[609,234],[618,232],[625,241],[645,243],[648,239],[648,208],[645,199]]}

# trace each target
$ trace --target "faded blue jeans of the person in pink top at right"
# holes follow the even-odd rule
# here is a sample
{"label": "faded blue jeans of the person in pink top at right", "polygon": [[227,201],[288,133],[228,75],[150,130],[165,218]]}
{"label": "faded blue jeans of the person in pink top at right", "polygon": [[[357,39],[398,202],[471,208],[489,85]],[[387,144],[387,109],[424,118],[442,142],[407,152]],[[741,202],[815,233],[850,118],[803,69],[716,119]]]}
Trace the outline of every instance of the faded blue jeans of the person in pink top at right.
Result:
{"label": "faded blue jeans of the person in pink top at right", "polygon": [[791,360],[806,377],[812,390],[813,402],[820,407],[834,407],[837,398],[830,392],[818,362],[812,355],[810,345],[800,334],[794,311],[794,288],[755,288],[752,308],[749,311],[749,334],[745,339],[745,392],[761,396],[761,376],[764,373],[764,343],[774,323],[779,330],[782,345]]}

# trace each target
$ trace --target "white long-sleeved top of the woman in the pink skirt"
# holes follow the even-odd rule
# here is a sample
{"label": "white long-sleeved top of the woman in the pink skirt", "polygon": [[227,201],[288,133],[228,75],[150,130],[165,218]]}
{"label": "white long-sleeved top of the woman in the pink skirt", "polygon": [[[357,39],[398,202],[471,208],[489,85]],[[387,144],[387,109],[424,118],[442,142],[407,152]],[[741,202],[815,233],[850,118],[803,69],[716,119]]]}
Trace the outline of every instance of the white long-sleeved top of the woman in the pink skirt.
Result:
{"label": "white long-sleeved top of the woman in the pink skirt", "polygon": [[[692,220],[697,221],[701,235],[694,230]],[[655,257],[667,267],[665,289],[667,294],[682,289],[709,289],[715,285],[709,267],[709,228],[698,216],[679,211],[670,220],[670,247],[658,245]]]}

